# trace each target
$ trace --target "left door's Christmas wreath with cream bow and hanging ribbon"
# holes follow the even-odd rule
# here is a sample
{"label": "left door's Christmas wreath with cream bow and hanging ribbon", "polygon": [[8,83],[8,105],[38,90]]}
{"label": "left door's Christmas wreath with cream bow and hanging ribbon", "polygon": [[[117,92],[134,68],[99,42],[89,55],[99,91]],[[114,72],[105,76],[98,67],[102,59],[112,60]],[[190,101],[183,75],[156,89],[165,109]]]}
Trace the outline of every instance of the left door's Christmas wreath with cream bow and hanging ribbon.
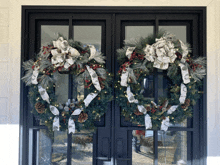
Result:
{"label": "left door's Christmas wreath with cream bow and hanging ribbon", "polygon": [[[35,62],[24,62],[26,74],[22,80],[30,86],[35,117],[50,130],[74,133],[75,129],[94,128],[94,120],[100,119],[112,99],[111,74],[104,67],[104,58],[93,45],[59,37],[41,48]],[[75,85],[84,83],[85,99],[58,103],[55,87],[59,74],[71,74]]]}

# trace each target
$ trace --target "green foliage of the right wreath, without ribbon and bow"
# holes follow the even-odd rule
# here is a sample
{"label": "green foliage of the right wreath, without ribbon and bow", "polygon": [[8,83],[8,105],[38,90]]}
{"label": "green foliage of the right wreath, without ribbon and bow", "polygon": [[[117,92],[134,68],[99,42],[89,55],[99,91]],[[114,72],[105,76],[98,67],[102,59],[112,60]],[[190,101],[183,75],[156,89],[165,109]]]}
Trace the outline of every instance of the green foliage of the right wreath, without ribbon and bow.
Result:
{"label": "green foliage of the right wreath, without ribbon and bow", "polygon": [[[156,38],[164,37],[166,34],[161,31]],[[145,56],[145,52],[143,51],[146,45],[152,45],[155,43],[155,36],[150,35],[146,38],[140,38],[139,40],[130,40],[125,42],[125,47],[117,50],[117,60],[120,65],[120,70],[116,76],[115,82],[115,95],[116,102],[121,107],[121,115],[125,118],[125,120],[131,121],[136,125],[145,125],[144,114],[138,111],[137,105],[143,105],[147,110],[147,114],[150,115],[152,121],[152,129],[158,129],[161,127],[161,122],[164,118],[169,117],[170,122],[173,124],[180,123],[188,117],[192,117],[193,106],[196,101],[200,98],[201,93],[199,89],[201,89],[202,82],[195,81],[195,78],[190,77],[190,83],[186,84],[187,87],[187,96],[186,100],[190,100],[190,103],[187,105],[186,102],[184,104],[180,104],[180,90],[181,83],[183,83],[180,62],[182,58],[183,50],[181,48],[179,40],[177,40],[174,36],[171,38],[172,43],[174,44],[175,49],[177,49],[176,55],[177,58],[174,63],[169,63],[169,67],[167,69],[166,78],[168,79],[168,91],[167,97],[159,96],[158,104],[155,106],[152,104],[152,100],[145,98],[141,91],[143,91],[143,80],[148,75],[154,75],[157,70],[153,67],[153,62],[147,61],[145,58],[141,58]],[[126,56],[127,48],[135,47],[133,51],[133,58],[128,59]],[[190,48],[188,47],[188,50]],[[189,51],[190,52],[190,51]],[[136,82],[131,81],[132,79],[128,79],[128,86],[131,87],[131,92],[134,94],[135,99],[138,100],[138,104],[129,103],[126,96],[127,87],[123,87],[120,84],[122,70],[126,69],[125,64],[129,63],[129,68],[134,70],[136,76]],[[144,65],[146,69],[138,68],[137,65]],[[200,66],[201,65],[201,66]],[[198,73],[199,75],[195,75],[194,77],[199,77],[198,79],[202,79],[205,73],[205,61],[204,58],[200,59],[192,59],[189,55],[186,59],[186,66],[189,70],[189,73],[192,75],[197,74],[196,71],[199,68],[202,68],[202,73]],[[122,69],[123,68],[123,69]],[[156,101],[156,100],[155,100]],[[178,105],[177,109],[172,113],[168,114],[167,108],[166,110],[162,110],[164,107],[164,103],[168,101],[168,106]],[[139,112],[139,113],[137,113]]]}

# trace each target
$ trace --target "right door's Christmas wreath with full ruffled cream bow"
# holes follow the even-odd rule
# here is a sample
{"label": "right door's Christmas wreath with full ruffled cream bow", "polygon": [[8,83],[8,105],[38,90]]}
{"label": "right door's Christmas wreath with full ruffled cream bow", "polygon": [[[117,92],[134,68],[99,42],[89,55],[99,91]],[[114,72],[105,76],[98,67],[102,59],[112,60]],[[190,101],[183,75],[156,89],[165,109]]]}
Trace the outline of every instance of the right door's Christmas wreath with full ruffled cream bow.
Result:
{"label": "right door's Christmas wreath with full ruffled cream bow", "polygon": [[[170,123],[192,116],[202,93],[206,61],[204,57],[192,58],[189,52],[188,44],[166,32],[125,41],[117,50],[120,68],[115,83],[116,102],[125,119],[146,129],[166,131]],[[143,96],[144,78],[155,69],[166,70],[168,79],[167,97],[159,97],[158,102]]]}

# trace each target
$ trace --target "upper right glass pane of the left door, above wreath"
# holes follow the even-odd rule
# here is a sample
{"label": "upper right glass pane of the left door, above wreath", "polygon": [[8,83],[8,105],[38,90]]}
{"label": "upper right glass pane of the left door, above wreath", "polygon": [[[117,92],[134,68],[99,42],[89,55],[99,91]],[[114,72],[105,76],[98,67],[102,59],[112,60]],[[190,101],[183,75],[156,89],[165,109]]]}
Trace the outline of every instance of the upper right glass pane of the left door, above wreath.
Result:
{"label": "upper right glass pane of the left door, above wreath", "polygon": [[102,41],[102,27],[101,26],[80,26],[74,25],[73,36],[75,41],[82,42],[86,45],[94,45],[96,50],[101,52]]}

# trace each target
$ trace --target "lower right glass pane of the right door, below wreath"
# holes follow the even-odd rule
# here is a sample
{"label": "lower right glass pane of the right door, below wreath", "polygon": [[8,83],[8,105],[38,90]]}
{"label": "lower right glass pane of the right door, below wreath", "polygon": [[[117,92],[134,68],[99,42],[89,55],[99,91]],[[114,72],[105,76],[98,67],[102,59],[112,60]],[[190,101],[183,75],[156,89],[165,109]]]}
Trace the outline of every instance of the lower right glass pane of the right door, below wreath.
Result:
{"label": "lower right glass pane of the right door, below wreath", "polygon": [[158,131],[158,165],[187,164],[187,132]]}

